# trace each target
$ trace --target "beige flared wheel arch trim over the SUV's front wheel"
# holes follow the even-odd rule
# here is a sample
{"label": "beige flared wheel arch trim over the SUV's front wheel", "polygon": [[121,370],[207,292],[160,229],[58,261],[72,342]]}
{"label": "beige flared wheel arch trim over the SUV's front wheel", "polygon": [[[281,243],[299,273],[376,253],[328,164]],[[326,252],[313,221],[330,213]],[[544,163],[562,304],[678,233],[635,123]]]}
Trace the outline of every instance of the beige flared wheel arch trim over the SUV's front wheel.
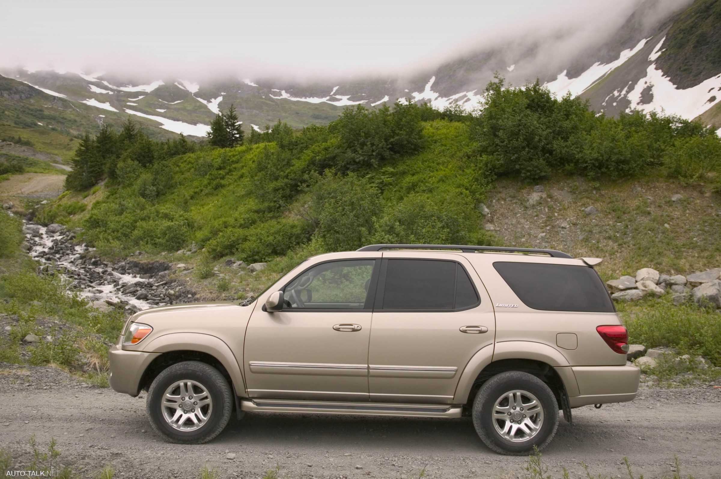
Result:
{"label": "beige flared wheel arch trim over the SUV's front wheel", "polygon": [[150,341],[143,352],[167,353],[173,351],[198,351],[210,354],[223,364],[230,375],[236,393],[247,396],[245,378],[230,347],[221,339],[203,333],[169,333]]}

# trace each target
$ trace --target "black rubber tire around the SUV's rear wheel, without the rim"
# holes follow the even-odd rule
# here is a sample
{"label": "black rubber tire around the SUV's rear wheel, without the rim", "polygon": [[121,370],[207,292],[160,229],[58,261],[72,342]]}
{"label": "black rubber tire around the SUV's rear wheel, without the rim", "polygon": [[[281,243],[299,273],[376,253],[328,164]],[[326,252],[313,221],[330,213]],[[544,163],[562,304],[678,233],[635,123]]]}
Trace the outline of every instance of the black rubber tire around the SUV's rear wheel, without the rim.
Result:
{"label": "black rubber tire around the SUV's rear wheel, without the rim", "polygon": [[[496,430],[492,415],[497,400],[518,390],[536,397],[542,408],[543,419],[534,436],[521,440],[524,435],[521,431],[518,440],[511,441]],[[543,449],[551,442],[558,429],[558,403],[555,396],[548,385],[527,372],[502,372],[487,380],[473,402],[472,416],[473,426],[484,444],[492,451],[505,455],[526,455],[533,451],[534,446]],[[497,424],[504,424],[503,420],[497,421]]]}

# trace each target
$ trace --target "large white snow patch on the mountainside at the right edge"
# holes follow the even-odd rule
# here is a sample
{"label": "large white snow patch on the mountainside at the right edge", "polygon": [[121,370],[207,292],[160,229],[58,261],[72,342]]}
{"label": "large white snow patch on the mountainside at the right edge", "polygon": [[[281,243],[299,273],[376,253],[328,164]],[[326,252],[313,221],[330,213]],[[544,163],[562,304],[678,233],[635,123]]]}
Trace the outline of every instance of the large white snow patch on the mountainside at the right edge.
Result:
{"label": "large white snow patch on the mountainside at the right edge", "polygon": [[[642,104],[641,92],[649,86],[653,99],[648,104]],[[709,102],[712,97],[709,89],[717,87],[721,88],[721,74],[712,76],[691,88],[678,89],[671,83],[671,79],[664,76],[663,71],[660,71],[656,68],[656,64],[652,63],[646,70],[645,78],[640,79],[628,94],[627,98],[631,102],[629,110],[663,111],[666,115],[678,115],[686,120],[692,120],[721,100],[720,95],[713,102]]]}

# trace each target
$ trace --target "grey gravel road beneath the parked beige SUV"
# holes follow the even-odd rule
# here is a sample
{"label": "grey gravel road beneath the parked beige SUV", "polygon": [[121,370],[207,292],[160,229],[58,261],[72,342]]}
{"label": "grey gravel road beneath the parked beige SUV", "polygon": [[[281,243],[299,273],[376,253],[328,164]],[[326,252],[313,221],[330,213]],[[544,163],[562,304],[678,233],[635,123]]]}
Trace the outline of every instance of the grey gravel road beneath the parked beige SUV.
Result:
{"label": "grey gravel road beneath the parked beige SUV", "polygon": [[[207,462],[219,478],[261,478],[280,466],[279,478],[516,478],[523,457],[495,455],[478,439],[469,418],[363,418],[361,416],[247,414],[235,418],[210,444],[167,444],[156,437],[138,398],[84,385],[49,367],[0,364],[0,448],[15,467],[30,462],[27,441],[58,439],[60,460],[97,477],[112,465],[116,478],[198,478]],[[559,425],[543,460],[552,477],[627,478],[681,473],[721,478],[721,390],[642,389],[632,403],[574,410],[575,424]],[[235,455],[234,459],[227,459]]]}

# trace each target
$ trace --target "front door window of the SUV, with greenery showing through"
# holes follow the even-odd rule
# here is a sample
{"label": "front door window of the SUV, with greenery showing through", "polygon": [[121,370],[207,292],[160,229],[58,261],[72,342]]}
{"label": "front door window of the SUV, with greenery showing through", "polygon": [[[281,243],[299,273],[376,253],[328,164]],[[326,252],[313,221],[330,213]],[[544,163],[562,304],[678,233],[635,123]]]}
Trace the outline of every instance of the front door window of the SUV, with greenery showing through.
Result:
{"label": "front door window of the SUV, with greenery showing through", "polygon": [[283,290],[284,308],[361,310],[375,264],[373,259],[354,259],[312,267]]}

